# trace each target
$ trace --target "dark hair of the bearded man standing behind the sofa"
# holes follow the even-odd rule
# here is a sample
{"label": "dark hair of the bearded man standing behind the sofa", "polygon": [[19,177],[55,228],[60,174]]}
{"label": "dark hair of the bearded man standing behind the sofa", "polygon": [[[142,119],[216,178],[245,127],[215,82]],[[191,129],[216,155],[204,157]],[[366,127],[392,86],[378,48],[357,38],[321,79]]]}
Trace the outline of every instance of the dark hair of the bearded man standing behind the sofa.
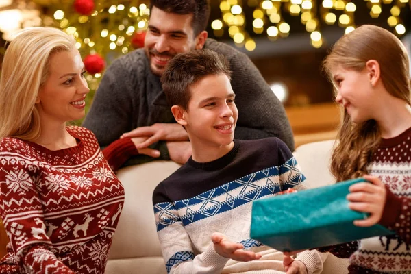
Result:
{"label": "dark hair of the bearded man standing behind the sofa", "polygon": [[208,0],[151,0],[150,10],[153,7],[175,14],[193,14],[191,26],[195,36],[206,30],[210,18]]}

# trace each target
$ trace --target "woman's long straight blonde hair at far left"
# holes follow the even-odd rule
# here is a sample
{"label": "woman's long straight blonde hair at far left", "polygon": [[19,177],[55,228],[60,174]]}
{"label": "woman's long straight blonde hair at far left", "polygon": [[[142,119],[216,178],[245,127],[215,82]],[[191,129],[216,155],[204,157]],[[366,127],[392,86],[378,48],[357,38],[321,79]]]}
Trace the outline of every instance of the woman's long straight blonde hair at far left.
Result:
{"label": "woman's long straight blonde hair at far left", "polygon": [[73,37],[52,27],[18,32],[5,51],[0,76],[0,138],[34,140],[40,136],[36,98],[49,77],[53,53],[71,51]]}

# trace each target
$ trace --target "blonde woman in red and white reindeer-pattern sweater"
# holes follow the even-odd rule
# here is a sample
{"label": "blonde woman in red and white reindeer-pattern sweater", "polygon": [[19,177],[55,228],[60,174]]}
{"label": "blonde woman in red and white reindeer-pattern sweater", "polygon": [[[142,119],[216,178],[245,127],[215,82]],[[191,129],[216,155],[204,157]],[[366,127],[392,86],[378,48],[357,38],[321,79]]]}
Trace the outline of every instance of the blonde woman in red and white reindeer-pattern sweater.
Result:
{"label": "blonde woman in red and white reindeer-pattern sweater", "polygon": [[0,273],[104,273],[124,190],[84,116],[89,89],[75,40],[25,29],[0,78]]}

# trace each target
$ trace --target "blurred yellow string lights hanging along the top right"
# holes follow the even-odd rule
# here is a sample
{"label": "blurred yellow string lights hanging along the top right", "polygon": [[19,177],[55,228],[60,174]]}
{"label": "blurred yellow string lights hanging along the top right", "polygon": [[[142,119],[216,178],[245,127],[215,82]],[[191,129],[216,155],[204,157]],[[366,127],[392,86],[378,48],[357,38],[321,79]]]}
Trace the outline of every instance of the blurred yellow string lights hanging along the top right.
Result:
{"label": "blurred yellow string lights hanging along the top right", "polygon": [[[408,0],[365,0],[369,8],[371,18],[377,18],[382,13],[382,5],[392,5],[387,23],[401,36],[405,34],[406,27],[401,23],[401,9]],[[321,24],[336,25],[345,28],[345,33],[352,32],[356,28],[354,14],[356,4],[345,0],[221,0],[221,18],[212,21],[211,27],[215,36],[223,36],[224,29],[228,29],[236,45],[245,46],[249,51],[256,48],[256,42],[245,31],[245,16],[242,14],[243,5],[253,9],[253,32],[255,34],[266,33],[270,40],[279,37],[287,37],[290,33],[290,25],[284,20],[282,12],[288,12],[290,16],[299,16],[300,21],[310,33],[310,42],[313,47],[323,45]],[[411,4],[410,4],[411,5]]]}

